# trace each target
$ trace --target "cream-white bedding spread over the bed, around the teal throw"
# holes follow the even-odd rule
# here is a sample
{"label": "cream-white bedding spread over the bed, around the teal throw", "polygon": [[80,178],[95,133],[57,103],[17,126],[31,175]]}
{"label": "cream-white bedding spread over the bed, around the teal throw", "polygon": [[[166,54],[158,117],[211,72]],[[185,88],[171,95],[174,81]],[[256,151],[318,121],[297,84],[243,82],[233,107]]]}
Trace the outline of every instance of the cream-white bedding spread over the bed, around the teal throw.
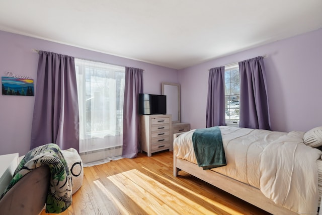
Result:
{"label": "cream-white bedding spread over the bed, around the teal throw", "polygon": [[[257,187],[275,203],[297,213],[316,214],[316,160],[321,152],[303,143],[303,132],[219,127],[227,166],[213,171]],[[197,164],[193,132],[174,140],[174,154]]]}

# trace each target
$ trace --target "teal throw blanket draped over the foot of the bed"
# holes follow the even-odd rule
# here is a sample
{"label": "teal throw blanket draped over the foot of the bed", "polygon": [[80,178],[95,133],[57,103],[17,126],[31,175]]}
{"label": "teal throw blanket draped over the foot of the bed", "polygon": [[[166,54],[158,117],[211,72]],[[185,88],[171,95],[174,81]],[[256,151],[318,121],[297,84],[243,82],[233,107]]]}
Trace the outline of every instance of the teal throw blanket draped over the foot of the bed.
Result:
{"label": "teal throw blanket draped over the foot of the bed", "polygon": [[218,126],[196,129],[192,142],[199,167],[207,170],[227,165]]}

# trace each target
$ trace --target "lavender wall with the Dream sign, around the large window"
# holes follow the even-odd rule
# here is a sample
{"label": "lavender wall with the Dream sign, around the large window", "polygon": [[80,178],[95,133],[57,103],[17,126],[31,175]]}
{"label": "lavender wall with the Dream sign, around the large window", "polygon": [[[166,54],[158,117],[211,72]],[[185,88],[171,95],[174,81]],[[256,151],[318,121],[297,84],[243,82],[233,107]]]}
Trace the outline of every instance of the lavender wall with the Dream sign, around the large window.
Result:
{"label": "lavender wall with the Dream sign, around the large window", "polygon": [[[178,83],[176,69],[4,31],[0,31],[0,47],[0,77],[6,76],[6,71],[30,76],[35,80],[35,88],[37,87],[38,54],[32,49],[142,68],[144,69],[144,93],[161,94],[161,82]],[[34,97],[30,96],[0,94],[0,155],[9,153],[24,155],[29,151],[34,101]]]}

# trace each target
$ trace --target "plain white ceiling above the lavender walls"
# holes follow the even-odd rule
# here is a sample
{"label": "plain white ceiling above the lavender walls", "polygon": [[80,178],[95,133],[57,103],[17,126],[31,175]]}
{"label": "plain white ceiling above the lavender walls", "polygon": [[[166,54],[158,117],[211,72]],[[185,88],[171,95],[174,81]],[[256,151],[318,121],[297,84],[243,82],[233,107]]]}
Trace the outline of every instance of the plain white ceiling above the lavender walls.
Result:
{"label": "plain white ceiling above the lavender walls", "polygon": [[181,69],[322,27],[322,0],[1,0],[0,30]]}

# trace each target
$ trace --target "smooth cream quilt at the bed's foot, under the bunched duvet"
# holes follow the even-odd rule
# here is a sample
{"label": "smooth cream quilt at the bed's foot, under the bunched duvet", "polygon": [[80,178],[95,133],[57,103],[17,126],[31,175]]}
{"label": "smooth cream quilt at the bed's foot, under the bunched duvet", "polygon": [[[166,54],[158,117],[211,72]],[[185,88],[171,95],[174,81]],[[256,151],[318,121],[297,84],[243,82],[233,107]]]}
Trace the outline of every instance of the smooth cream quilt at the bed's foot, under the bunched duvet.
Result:
{"label": "smooth cream quilt at the bed's foot, under the bunched duvet", "polygon": [[[285,133],[229,126],[220,126],[220,130],[227,165],[211,170],[259,188],[259,160],[254,156]],[[197,164],[191,140],[193,132],[174,140],[174,153],[177,158]]]}

